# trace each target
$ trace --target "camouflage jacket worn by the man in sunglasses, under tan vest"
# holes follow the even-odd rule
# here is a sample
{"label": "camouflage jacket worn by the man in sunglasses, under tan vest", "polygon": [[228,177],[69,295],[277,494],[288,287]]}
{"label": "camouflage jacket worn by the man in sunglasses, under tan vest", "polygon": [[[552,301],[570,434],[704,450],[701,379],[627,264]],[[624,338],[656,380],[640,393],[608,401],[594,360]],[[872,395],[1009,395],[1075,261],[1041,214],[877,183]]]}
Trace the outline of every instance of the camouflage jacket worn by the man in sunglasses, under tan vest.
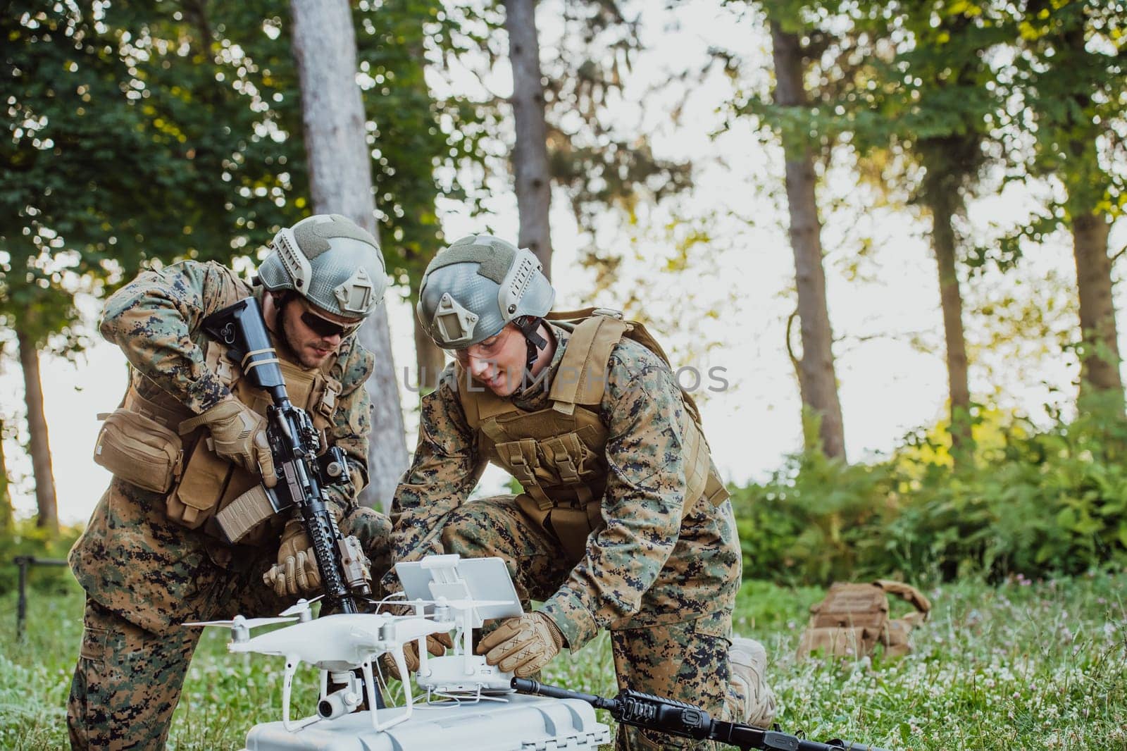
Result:
{"label": "camouflage jacket worn by the man in sunglasses, under tan vest", "polygon": [[[106,301],[101,335],[125,353],[131,383],[142,397],[171,395],[193,413],[201,413],[230,394],[205,363],[207,337],[201,323],[252,293],[234,272],[216,263],[187,260],[148,271]],[[278,355],[290,359],[284,347]],[[341,394],[326,434],[330,445],[346,452],[353,472],[352,487],[328,488],[330,502],[344,512],[356,506],[356,496],[367,481],[371,415],[363,383],[372,366],[373,356],[350,336],[328,371],[340,382]],[[204,532],[168,520],[163,495],[115,478],[70,560],[79,583],[103,604],[113,607],[113,601],[125,598],[137,608],[148,603],[159,609],[175,583],[169,576],[180,576],[177,572],[201,562],[205,551],[219,562],[220,547]],[[160,618],[130,619],[145,628],[160,625]]]}

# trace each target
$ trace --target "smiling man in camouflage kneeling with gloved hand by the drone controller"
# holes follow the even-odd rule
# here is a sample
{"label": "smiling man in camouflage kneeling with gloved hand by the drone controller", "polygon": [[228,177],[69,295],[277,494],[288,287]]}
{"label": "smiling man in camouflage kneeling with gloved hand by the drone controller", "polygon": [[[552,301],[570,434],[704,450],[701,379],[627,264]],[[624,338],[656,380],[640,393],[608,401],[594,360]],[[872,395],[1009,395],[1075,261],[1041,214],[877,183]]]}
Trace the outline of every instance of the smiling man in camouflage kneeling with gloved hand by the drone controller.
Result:
{"label": "smiling man in camouflage kneeling with gloved hand by the drone controller", "polygon": [[[423,398],[394,558],[508,563],[524,604],[543,606],[481,640],[502,670],[534,674],[609,629],[621,688],[769,724],[766,655],[733,639],[739,544],[692,398],[644,327],[606,310],[549,313],[553,299],[535,256],[489,236],[428,266],[417,312],[455,362]],[[468,501],[489,461],[524,493]],[[625,726],[616,740],[692,745]]]}

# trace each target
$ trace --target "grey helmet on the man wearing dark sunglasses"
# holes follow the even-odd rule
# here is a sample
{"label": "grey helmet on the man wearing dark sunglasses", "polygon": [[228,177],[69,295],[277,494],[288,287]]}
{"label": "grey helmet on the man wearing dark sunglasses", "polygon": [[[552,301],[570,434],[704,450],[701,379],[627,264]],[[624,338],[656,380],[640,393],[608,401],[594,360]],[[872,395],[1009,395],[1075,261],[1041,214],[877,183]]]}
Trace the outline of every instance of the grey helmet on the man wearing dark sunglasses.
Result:
{"label": "grey helmet on the man wearing dark sunglasses", "polygon": [[314,214],[274,236],[258,267],[267,290],[293,290],[338,316],[365,318],[388,286],[380,244],[340,214]]}

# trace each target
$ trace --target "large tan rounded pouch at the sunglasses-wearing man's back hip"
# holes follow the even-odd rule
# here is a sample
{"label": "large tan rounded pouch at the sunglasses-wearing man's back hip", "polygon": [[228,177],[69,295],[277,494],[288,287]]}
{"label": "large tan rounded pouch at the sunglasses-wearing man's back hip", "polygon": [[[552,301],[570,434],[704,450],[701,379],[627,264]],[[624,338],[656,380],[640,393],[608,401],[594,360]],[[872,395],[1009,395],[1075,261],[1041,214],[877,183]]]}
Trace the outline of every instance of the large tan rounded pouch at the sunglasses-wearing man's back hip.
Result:
{"label": "large tan rounded pouch at the sunglasses-wearing man's back hip", "polygon": [[104,422],[94,445],[95,463],[140,488],[167,493],[184,461],[180,436],[125,408],[98,417]]}

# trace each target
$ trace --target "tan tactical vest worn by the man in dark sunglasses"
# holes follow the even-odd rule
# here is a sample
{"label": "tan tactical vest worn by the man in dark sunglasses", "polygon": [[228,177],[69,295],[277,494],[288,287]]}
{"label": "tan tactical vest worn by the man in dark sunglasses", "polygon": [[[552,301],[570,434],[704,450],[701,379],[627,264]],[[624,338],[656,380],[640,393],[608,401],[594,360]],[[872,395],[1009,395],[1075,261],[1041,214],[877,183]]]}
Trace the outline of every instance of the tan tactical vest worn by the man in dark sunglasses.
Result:
{"label": "tan tactical vest worn by the man in dark sunglasses", "polygon": [[[269,394],[255,388],[243,379],[239,364],[227,354],[225,345],[208,341],[205,348],[207,368],[239,401],[265,416],[266,408],[273,404]],[[336,361],[337,356],[334,355],[320,369],[305,370],[286,360],[279,360],[290,401],[309,413],[313,426],[321,431],[322,448],[325,431],[332,424],[340,396],[340,382],[328,376]],[[176,431],[180,423],[194,416],[172,397],[160,394],[158,398],[147,399],[131,382],[122,407],[153,419],[171,431]],[[216,454],[212,449],[207,428],[197,427],[183,436],[179,469],[175,472],[167,493],[168,516],[189,529],[198,529],[260,481],[257,475]],[[205,528],[205,531],[211,530]],[[241,541],[247,545],[260,545],[268,537],[269,530],[263,528]]]}

